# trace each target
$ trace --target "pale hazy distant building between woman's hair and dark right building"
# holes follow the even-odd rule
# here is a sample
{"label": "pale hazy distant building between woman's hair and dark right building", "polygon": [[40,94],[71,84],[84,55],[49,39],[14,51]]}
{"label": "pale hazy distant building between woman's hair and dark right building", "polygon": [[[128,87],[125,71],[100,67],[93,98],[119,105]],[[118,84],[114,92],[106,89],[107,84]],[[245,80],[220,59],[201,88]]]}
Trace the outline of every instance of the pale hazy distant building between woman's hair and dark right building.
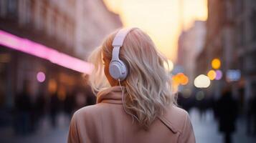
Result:
{"label": "pale hazy distant building between woman's hair and dark right building", "polygon": [[181,66],[184,69],[184,74],[189,77],[189,88],[194,86],[196,56],[203,49],[205,34],[205,21],[194,21],[194,25],[190,29],[183,31],[179,36],[176,64]]}

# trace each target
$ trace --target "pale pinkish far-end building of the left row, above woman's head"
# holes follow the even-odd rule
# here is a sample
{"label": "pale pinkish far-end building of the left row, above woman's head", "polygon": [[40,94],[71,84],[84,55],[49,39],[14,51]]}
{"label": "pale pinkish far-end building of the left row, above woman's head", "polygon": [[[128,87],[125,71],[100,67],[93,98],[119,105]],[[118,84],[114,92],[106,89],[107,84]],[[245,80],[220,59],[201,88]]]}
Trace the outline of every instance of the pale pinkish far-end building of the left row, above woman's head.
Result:
{"label": "pale pinkish far-end building of the left row, above woman's head", "polygon": [[103,0],[77,0],[76,54],[87,56],[106,34],[123,26],[118,14],[107,9]]}

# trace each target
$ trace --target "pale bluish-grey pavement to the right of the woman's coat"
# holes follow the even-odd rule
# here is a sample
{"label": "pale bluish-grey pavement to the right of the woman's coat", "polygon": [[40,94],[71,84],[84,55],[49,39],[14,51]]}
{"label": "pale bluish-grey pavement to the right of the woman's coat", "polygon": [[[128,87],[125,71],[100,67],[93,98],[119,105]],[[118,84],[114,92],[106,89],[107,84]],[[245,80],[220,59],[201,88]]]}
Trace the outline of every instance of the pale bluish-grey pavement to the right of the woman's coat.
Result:
{"label": "pale bluish-grey pavement to the right of the woman's coat", "polygon": [[[222,134],[218,132],[218,124],[214,121],[212,112],[206,112],[203,119],[200,119],[199,112],[192,109],[189,113],[194,127],[196,143],[221,143]],[[233,143],[255,143],[256,137],[247,136],[245,122],[237,121],[237,131],[233,134]]]}

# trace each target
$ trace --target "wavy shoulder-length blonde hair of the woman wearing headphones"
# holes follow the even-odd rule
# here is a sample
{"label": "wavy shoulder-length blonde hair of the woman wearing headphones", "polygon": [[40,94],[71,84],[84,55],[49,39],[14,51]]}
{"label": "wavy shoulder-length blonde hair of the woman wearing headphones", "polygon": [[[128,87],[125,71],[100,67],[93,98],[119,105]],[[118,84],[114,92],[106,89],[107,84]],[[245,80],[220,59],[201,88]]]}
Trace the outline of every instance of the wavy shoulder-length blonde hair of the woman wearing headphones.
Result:
{"label": "wavy shoulder-length blonde hair of the woman wearing headphones", "polygon": [[[95,64],[89,77],[95,91],[110,87],[104,75],[103,55],[111,60],[116,33],[110,34],[89,56],[88,61]],[[163,114],[165,107],[176,103],[171,94],[170,74],[163,66],[167,59],[156,51],[151,38],[141,29],[133,29],[125,37],[119,58],[128,66],[128,76],[122,82],[125,87],[124,108],[136,116],[142,127],[148,128],[156,117]]]}

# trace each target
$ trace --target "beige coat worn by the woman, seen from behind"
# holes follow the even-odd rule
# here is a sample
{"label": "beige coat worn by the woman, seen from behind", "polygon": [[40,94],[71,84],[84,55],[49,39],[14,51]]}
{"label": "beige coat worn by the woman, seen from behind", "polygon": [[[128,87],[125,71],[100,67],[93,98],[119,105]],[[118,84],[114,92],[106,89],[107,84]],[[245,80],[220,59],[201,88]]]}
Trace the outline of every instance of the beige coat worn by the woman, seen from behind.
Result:
{"label": "beige coat worn by the woman, seen from behind", "polygon": [[121,94],[120,87],[111,87],[98,94],[97,104],[75,112],[68,142],[195,142],[189,114],[183,109],[169,107],[148,130],[144,130],[125,113]]}

